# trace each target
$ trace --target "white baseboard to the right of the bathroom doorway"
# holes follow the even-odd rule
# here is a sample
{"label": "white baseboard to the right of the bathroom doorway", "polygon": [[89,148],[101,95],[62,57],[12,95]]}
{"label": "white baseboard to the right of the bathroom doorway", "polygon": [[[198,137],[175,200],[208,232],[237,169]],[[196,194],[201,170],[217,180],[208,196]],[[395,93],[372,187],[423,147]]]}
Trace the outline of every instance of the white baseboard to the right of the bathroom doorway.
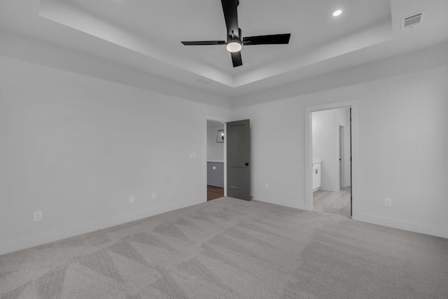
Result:
{"label": "white baseboard to the right of the bathroom doorway", "polygon": [[442,228],[440,226],[415,223],[411,221],[402,221],[398,219],[386,218],[362,213],[355,214],[353,215],[352,218],[353,220],[357,221],[388,226],[389,228],[398,228],[400,230],[409,230],[410,232],[419,232],[425,235],[431,235],[435,237],[442,237],[448,239],[448,228]]}

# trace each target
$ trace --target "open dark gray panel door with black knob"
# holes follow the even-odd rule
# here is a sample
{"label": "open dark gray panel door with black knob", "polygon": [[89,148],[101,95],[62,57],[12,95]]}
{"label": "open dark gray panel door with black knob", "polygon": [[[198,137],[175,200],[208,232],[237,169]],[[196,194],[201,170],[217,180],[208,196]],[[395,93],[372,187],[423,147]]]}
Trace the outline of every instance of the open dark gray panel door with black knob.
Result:
{"label": "open dark gray panel door with black knob", "polygon": [[251,129],[249,120],[227,123],[227,196],[251,200]]}

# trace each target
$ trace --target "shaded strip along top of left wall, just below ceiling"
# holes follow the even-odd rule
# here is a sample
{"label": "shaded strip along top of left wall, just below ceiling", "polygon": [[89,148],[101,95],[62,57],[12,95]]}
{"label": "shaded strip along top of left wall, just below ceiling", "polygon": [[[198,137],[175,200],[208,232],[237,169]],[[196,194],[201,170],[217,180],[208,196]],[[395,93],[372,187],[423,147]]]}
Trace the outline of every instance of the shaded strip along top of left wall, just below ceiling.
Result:
{"label": "shaded strip along top of left wall, just below ceiling", "polygon": [[[108,55],[109,53],[101,53],[97,56],[85,55],[82,51],[77,50],[76,46],[65,48],[54,43],[34,39],[31,36],[21,36],[1,29],[0,40],[0,56],[41,64],[55,69],[64,69],[76,74],[122,83],[151,92],[160,92],[181,99],[189,99],[193,102],[230,108],[230,101],[227,97],[216,95],[214,92],[207,90],[200,90],[201,85],[199,84],[197,84],[197,88],[193,88],[164,78],[163,73],[159,73],[161,69],[176,71],[176,68],[169,68],[166,64],[163,68],[158,69],[156,74],[151,74],[148,73],[145,64],[141,64],[141,61],[132,62],[133,67],[125,66],[113,60]],[[101,40],[85,41],[85,43],[98,41]],[[92,47],[95,48],[95,46]],[[127,55],[126,50],[123,52],[124,49],[120,47],[116,50],[120,51],[120,55]],[[128,58],[130,57],[132,55],[128,56]],[[151,71],[154,72],[153,69]],[[192,82],[197,78],[195,75],[190,76]]]}

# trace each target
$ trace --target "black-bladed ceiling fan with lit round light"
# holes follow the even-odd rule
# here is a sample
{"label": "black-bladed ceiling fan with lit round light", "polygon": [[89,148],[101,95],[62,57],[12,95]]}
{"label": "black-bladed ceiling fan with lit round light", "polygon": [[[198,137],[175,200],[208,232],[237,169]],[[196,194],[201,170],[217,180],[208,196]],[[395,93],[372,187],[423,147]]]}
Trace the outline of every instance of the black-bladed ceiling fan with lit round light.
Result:
{"label": "black-bladed ceiling fan with lit round light", "polygon": [[289,43],[291,34],[272,34],[260,36],[241,36],[241,29],[238,27],[237,6],[239,0],[221,0],[225,26],[227,27],[227,41],[181,41],[185,46],[205,46],[205,45],[226,45],[227,50],[232,55],[233,67],[243,65],[241,60],[242,46],[251,45],[276,45]]}

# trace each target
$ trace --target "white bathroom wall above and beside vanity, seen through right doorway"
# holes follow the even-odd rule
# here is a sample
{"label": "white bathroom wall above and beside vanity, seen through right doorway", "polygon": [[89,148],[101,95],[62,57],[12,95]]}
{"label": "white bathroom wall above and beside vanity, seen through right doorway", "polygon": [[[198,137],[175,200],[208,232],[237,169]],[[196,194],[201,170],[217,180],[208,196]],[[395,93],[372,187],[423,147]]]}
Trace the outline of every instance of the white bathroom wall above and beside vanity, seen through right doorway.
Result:
{"label": "white bathroom wall above and beside vanity, seen through right doorway", "polygon": [[321,158],[321,190],[339,191],[337,113],[335,109],[312,113],[313,158]]}

